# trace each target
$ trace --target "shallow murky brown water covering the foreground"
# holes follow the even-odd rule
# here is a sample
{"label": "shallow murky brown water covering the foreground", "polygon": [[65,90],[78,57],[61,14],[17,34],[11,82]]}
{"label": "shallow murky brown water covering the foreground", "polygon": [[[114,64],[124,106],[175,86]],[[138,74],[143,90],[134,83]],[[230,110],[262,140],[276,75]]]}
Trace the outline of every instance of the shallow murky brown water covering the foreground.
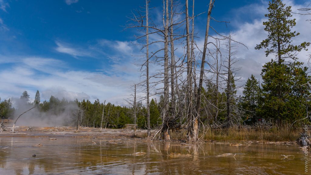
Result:
{"label": "shallow murky brown water covering the foreground", "polygon": [[[2,137],[0,174],[310,174],[304,172],[299,146],[125,140],[83,137]],[[53,138],[53,136],[52,136]],[[122,139],[122,138],[121,138]],[[92,140],[97,144],[93,144]],[[43,146],[35,147],[34,144]],[[242,142],[243,143],[243,142]],[[146,152],[141,156],[131,155]],[[178,154],[180,153],[180,154]],[[232,153],[229,156],[217,156]],[[32,155],[36,154],[36,158]],[[284,155],[294,155],[282,159]],[[308,155],[311,160],[310,154]]]}

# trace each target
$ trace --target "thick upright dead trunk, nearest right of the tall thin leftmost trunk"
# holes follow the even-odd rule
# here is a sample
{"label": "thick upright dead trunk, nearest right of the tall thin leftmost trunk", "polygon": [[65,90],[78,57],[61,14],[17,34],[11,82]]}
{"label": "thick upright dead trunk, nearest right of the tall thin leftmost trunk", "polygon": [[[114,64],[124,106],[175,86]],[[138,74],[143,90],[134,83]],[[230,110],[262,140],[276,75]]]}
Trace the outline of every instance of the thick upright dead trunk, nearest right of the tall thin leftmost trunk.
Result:
{"label": "thick upright dead trunk, nearest right of the tall thin leftmost trunk", "polygon": [[169,55],[168,55],[168,30],[169,30],[169,1],[166,0],[165,5],[165,16],[166,16],[166,22],[165,22],[165,32],[164,32],[164,107],[163,107],[163,119],[164,122],[162,124],[162,134],[164,140],[170,140],[169,135]]}

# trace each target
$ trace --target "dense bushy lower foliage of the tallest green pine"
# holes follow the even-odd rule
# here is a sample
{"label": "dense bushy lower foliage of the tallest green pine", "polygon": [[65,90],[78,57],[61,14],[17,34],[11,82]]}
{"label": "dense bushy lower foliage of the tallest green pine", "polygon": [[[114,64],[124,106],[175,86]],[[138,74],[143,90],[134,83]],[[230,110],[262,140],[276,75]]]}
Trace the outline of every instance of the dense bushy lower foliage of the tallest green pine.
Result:
{"label": "dense bushy lower foliage of the tallest green pine", "polygon": [[306,116],[305,106],[309,89],[301,86],[311,81],[303,63],[276,63],[271,60],[262,69],[263,105],[260,113],[265,118],[273,118],[278,124],[281,121],[293,122]]}

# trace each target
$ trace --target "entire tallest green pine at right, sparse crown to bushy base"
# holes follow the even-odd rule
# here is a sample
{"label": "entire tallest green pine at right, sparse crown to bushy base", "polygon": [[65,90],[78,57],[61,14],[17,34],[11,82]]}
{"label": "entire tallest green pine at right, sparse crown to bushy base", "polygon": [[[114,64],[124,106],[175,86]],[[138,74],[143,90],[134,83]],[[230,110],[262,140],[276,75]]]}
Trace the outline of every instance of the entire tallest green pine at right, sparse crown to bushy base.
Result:
{"label": "entire tallest green pine at right, sparse crown to bushy base", "polygon": [[291,58],[295,61],[298,52],[307,50],[310,43],[291,44],[292,38],[299,33],[290,30],[296,25],[295,19],[288,19],[292,17],[290,6],[285,7],[281,0],[272,0],[269,2],[268,11],[269,14],[265,15],[268,21],[263,22],[268,37],[255,49],[267,49],[266,56],[273,54],[278,62],[271,60],[263,66],[261,75],[264,100],[260,112],[262,116],[272,117],[280,124],[284,119],[293,120],[305,113],[297,105],[305,104],[305,94],[309,93],[305,87],[300,86],[310,80],[306,74],[307,68],[302,68],[300,62],[285,62],[285,59]]}

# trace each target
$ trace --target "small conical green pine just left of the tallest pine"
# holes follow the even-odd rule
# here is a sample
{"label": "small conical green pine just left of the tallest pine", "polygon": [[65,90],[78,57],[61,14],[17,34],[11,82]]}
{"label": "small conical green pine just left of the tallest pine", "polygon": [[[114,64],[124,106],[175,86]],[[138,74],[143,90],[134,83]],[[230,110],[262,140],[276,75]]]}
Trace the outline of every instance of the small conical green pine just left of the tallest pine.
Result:
{"label": "small conical green pine just left of the tallest pine", "polygon": [[242,107],[246,110],[245,115],[256,120],[255,111],[258,108],[260,87],[259,82],[253,74],[246,81],[243,95],[244,96],[242,97]]}

